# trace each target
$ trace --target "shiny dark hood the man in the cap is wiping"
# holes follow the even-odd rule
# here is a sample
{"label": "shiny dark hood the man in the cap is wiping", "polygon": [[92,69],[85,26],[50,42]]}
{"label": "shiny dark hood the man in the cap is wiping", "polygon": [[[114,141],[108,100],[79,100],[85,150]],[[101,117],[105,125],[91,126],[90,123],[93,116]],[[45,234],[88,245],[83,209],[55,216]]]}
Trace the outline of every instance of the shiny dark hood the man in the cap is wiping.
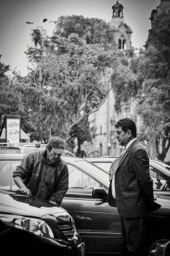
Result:
{"label": "shiny dark hood the man in the cap is wiping", "polygon": [[0,211],[3,214],[17,214],[42,218],[46,214],[61,214],[66,212],[62,207],[54,206],[27,195],[18,195],[11,191],[0,190]]}

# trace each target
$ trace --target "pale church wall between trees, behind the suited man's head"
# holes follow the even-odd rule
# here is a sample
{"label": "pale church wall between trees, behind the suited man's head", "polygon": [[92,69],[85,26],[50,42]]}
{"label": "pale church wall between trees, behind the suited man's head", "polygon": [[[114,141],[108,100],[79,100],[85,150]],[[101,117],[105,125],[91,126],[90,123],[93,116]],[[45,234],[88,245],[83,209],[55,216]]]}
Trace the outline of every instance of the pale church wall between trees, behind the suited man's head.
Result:
{"label": "pale church wall between trees, behind the suited man's head", "polygon": [[[111,88],[110,77],[108,76],[107,79],[108,86]],[[106,79],[105,82],[107,82]],[[115,123],[119,119],[123,119],[125,117],[134,119],[134,121],[136,121],[137,131],[140,131],[140,127],[142,126],[142,120],[135,114],[136,102],[134,98],[131,98],[127,104],[122,104],[119,113],[116,112],[114,104],[115,96],[113,90],[111,89],[103,105],[97,112],[93,113],[89,117],[89,121],[93,121],[93,125],[97,127],[97,135],[95,139],[93,139],[93,150],[91,147],[90,151],[98,152],[97,156],[120,154],[122,147],[118,144],[115,137],[114,127]],[[96,156],[96,154],[91,154],[91,156]]]}

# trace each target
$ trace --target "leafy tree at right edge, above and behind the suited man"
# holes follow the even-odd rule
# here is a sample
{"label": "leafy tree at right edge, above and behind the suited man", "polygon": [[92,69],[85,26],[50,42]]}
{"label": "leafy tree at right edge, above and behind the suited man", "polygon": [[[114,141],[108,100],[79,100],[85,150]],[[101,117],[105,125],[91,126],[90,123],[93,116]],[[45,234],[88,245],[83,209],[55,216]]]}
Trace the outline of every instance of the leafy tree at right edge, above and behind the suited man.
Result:
{"label": "leafy tree at right edge, above and behind the suited man", "polygon": [[116,110],[130,98],[138,102],[136,114],[143,120],[140,139],[151,149],[155,142],[157,158],[164,160],[170,146],[170,17],[157,15],[149,31],[146,50],[138,56],[120,59],[112,74]]}

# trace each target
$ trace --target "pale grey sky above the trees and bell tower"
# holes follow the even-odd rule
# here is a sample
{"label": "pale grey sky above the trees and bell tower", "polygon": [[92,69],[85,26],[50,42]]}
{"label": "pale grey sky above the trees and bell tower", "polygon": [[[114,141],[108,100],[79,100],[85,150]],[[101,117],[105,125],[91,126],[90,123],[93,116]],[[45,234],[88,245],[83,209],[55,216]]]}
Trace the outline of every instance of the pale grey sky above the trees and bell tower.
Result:
{"label": "pale grey sky above the trees and bell tower", "polygon": [[[1,62],[27,73],[27,58],[24,51],[30,44],[32,28],[43,26],[52,34],[60,15],[83,15],[85,18],[112,20],[112,5],[117,0],[0,0],[0,55]],[[132,46],[144,45],[151,28],[151,11],[160,0],[119,0],[124,6],[124,21],[132,28]],[[43,18],[48,22],[43,23]],[[34,24],[26,24],[34,22]]]}

